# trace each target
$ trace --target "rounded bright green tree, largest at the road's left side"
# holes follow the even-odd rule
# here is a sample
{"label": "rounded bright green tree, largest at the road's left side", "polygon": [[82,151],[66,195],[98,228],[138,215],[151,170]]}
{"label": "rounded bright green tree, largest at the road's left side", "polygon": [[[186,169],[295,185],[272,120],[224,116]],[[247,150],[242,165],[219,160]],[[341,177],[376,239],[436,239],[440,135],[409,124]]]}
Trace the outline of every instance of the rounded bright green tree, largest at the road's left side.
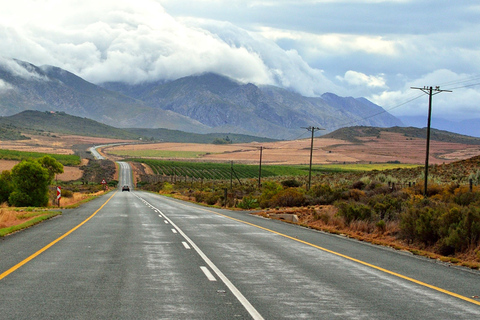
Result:
{"label": "rounded bright green tree, largest at the road's left side", "polygon": [[22,161],[12,169],[14,190],[8,198],[17,207],[45,207],[48,204],[50,175],[36,161]]}

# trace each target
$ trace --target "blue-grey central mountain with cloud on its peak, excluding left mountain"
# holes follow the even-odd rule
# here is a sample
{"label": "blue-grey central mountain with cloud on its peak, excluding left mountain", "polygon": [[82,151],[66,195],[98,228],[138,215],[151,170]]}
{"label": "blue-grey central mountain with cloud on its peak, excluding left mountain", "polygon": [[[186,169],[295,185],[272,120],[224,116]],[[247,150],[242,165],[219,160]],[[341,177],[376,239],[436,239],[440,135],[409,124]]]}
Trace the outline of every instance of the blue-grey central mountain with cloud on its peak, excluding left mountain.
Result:
{"label": "blue-grey central mountain with cloud on its peak, excluding left mountain", "polygon": [[213,73],[147,86],[105,84],[107,88],[134,94],[150,107],[188,116],[217,132],[288,139],[298,136],[308,126],[332,131],[353,124],[383,127],[402,124],[364,98],[342,98],[332,93],[320,98],[304,97],[278,87],[243,84]]}

